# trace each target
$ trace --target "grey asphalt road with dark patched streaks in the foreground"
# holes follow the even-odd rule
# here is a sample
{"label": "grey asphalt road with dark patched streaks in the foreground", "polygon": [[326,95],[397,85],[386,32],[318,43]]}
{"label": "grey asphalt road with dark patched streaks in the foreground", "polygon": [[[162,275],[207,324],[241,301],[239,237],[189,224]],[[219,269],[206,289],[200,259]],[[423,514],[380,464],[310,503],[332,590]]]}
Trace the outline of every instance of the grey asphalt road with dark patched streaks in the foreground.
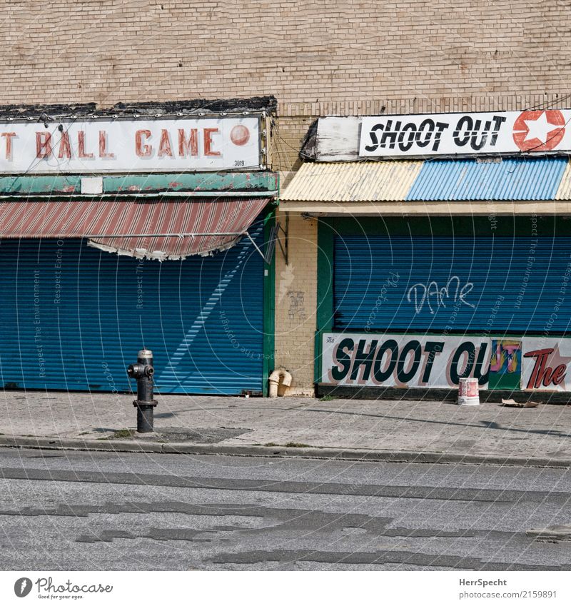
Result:
{"label": "grey asphalt road with dark patched streaks in the foreground", "polygon": [[0,449],[1,570],[571,570],[571,471]]}

